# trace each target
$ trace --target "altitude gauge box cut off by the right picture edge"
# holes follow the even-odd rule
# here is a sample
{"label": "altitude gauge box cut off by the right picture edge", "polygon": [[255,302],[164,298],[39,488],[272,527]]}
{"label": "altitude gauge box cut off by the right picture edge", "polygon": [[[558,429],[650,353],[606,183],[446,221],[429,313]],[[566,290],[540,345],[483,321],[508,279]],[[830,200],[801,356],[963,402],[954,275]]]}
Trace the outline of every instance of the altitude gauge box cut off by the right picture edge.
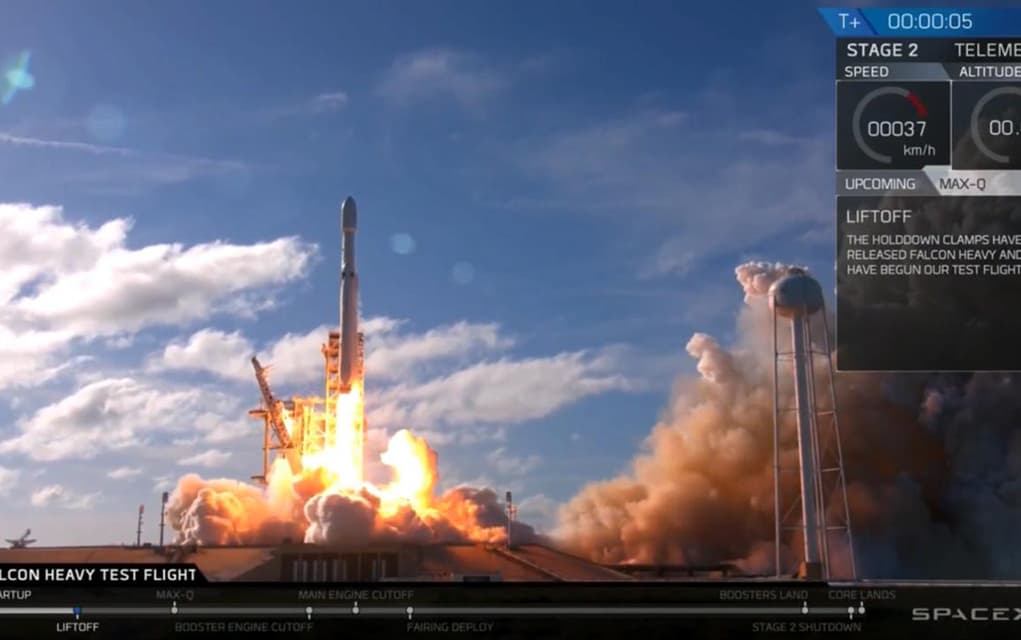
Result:
{"label": "altitude gauge box cut off by the right picture edge", "polygon": [[954,86],[954,168],[1021,169],[1021,85]]}

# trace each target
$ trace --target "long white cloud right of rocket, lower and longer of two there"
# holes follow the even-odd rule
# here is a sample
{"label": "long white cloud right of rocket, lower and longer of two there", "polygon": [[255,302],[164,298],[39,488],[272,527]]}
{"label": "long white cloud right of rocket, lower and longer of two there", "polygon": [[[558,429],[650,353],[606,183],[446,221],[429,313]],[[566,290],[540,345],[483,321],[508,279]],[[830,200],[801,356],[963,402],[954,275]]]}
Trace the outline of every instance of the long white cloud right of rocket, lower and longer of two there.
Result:
{"label": "long white cloud right of rocket, lower and longer of two there", "polygon": [[376,396],[371,419],[393,427],[513,424],[543,417],[584,397],[627,391],[613,349],[480,362],[421,384],[399,384]]}

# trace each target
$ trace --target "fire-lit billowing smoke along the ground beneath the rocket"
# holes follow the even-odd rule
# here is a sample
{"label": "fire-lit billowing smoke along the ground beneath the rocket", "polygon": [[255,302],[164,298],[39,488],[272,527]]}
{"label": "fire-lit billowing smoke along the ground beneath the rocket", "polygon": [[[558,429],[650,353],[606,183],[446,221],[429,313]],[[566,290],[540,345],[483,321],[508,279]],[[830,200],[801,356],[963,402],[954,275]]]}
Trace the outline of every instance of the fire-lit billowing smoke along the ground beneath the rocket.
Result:
{"label": "fire-lit billowing smoke along the ground beneath the rocket", "polygon": [[[425,485],[429,493],[417,496],[416,504],[386,504],[368,486],[359,491],[335,490],[315,473],[294,478],[287,463],[277,460],[268,487],[183,477],[167,502],[167,523],[179,544],[276,545],[288,539],[353,546],[505,541],[504,505],[494,491],[463,486],[434,497],[436,453],[408,432],[395,434],[391,450],[393,443],[424,449],[430,462],[432,476]],[[400,480],[398,467],[394,481]],[[532,527],[519,522],[514,523],[512,536],[518,543],[542,541]]]}

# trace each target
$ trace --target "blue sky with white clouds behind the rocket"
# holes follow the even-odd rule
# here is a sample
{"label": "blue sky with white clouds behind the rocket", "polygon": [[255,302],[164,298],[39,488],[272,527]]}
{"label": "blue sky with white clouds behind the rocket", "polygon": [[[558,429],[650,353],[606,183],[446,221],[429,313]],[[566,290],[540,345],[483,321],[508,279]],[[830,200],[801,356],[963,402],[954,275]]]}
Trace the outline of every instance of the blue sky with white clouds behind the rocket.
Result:
{"label": "blue sky with white clouds behind the rocket", "polygon": [[183,473],[257,473],[244,356],[320,391],[347,195],[371,426],[543,526],[627,467],[693,332],[732,338],[734,266],[832,287],[809,3],[3,12],[35,80],[0,107],[4,534],[124,542]]}

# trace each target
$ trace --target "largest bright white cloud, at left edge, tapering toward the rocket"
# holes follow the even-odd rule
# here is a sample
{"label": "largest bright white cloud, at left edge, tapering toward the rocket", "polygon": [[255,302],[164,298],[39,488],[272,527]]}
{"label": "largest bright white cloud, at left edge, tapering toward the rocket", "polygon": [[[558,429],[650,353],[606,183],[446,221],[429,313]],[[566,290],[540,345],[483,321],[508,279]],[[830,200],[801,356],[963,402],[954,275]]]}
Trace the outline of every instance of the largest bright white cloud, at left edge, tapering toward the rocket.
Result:
{"label": "largest bright white cloud, at left edge, tapering toward the rocket", "polygon": [[295,238],[131,249],[131,226],[0,203],[0,389],[53,378],[76,339],[124,343],[153,325],[247,310],[253,293],[302,277],[317,252]]}

